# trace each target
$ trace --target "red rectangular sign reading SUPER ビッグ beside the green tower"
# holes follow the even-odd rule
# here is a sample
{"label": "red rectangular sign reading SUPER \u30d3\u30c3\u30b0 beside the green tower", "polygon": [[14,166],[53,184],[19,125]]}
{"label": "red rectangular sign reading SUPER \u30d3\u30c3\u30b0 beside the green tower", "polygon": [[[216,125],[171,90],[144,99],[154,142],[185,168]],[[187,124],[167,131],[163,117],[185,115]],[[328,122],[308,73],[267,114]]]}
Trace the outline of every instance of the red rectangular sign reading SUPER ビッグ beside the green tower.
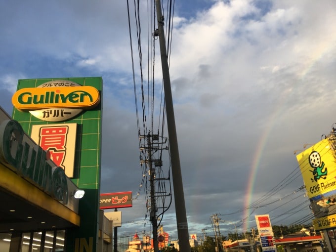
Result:
{"label": "red rectangular sign reading SUPER \u30d3\u30c3\u30b0 beside the green tower", "polygon": [[132,192],[101,193],[99,209],[131,208]]}

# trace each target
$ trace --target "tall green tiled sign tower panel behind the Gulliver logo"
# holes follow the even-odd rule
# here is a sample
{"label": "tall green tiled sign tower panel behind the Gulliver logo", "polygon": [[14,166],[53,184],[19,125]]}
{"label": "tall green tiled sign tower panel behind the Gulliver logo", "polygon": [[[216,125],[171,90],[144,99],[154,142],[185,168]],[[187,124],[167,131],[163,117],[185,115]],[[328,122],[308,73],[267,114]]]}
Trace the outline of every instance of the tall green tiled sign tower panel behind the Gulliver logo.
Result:
{"label": "tall green tiled sign tower panel behind the Gulliver logo", "polygon": [[[48,125],[48,124],[77,124],[76,133],[76,150],[74,162],[74,176],[72,181],[85,191],[84,197],[80,199],[79,215],[81,216],[81,224],[78,228],[69,229],[66,231],[66,252],[95,252],[98,244],[99,230],[99,197],[100,197],[100,166],[101,166],[101,130],[102,130],[102,90],[103,81],[101,77],[85,77],[85,78],[57,78],[57,79],[29,79],[19,80],[17,90],[22,88],[31,91],[32,100],[34,101],[34,88],[42,87],[43,84],[52,81],[69,81],[82,86],[93,86],[100,94],[99,104],[89,110],[83,110],[76,116],[62,122],[48,122],[42,120],[42,117],[51,116],[54,112],[50,109],[41,112],[42,119],[32,115],[29,111],[20,111],[14,107],[13,119],[18,121],[23,129],[31,135],[32,126]],[[61,85],[60,85],[61,86]],[[55,92],[57,93],[57,92]],[[79,93],[79,92],[77,92]],[[67,101],[79,100],[79,95],[76,92],[70,95],[63,96],[61,99]],[[44,102],[41,98],[36,97],[36,102]],[[27,102],[28,96],[21,100]],[[54,97],[56,97],[54,95]],[[70,98],[69,98],[70,97]],[[51,100],[50,96],[48,98]],[[64,113],[67,110],[60,110]],[[57,227],[56,227],[57,228]]]}

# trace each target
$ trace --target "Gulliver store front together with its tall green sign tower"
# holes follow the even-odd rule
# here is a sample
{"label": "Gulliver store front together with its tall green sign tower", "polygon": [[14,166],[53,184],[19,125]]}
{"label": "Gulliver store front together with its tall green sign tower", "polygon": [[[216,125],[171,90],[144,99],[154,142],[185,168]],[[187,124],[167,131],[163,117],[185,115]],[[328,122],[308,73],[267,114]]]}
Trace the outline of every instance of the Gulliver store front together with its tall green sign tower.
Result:
{"label": "Gulliver store front together with its tall green sign tower", "polygon": [[0,110],[1,252],[108,243],[99,232],[102,86],[101,77],[19,80],[12,118]]}

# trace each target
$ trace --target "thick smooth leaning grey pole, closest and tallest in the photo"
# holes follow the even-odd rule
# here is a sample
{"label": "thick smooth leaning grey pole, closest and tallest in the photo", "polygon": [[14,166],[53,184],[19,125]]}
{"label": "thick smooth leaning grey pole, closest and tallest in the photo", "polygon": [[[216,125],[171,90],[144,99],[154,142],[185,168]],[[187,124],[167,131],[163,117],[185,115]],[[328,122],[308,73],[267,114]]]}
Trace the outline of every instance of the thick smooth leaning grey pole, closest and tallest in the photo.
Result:
{"label": "thick smooth leaning grey pole, closest and tallest in the photo", "polygon": [[170,157],[171,157],[171,173],[174,187],[174,200],[176,211],[177,236],[181,252],[190,252],[189,232],[187,214],[185,210],[184,192],[182,183],[182,174],[180,166],[180,158],[178,153],[178,144],[176,136],[175,116],[172,103],[168,56],[166,49],[166,39],[164,31],[164,17],[161,11],[161,1],[155,0],[156,12],[158,17],[158,35],[160,42],[161,64],[165,89],[166,113],[168,137],[170,142]]}

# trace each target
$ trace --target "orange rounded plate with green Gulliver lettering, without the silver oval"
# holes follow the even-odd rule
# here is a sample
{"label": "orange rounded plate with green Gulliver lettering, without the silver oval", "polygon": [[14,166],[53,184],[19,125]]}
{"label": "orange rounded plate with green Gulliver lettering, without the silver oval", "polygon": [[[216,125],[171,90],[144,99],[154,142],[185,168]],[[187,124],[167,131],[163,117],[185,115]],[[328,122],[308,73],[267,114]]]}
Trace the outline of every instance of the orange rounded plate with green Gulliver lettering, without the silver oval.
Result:
{"label": "orange rounded plate with green Gulliver lettering, without the silver oval", "polygon": [[12,97],[15,108],[31,111],[45,108],[91,109],[100,101],[99,91],[93,86],[22,88]]}

